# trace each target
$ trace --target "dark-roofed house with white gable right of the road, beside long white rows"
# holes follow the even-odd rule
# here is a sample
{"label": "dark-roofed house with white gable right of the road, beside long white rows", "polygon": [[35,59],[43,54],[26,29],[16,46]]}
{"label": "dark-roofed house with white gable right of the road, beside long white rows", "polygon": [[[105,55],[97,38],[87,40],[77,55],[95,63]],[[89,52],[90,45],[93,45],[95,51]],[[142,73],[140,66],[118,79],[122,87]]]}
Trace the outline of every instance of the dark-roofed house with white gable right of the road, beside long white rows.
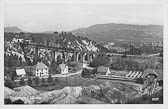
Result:
{"label": "dark-roofed house with white gable right of the road, beside long white rows", "polygon": [[97,69],[97,74],[98,75],[110,75],[111,72],[110,72],[110,69],[108,67],[103,67],[103,66],[100,66],[98,67]]}

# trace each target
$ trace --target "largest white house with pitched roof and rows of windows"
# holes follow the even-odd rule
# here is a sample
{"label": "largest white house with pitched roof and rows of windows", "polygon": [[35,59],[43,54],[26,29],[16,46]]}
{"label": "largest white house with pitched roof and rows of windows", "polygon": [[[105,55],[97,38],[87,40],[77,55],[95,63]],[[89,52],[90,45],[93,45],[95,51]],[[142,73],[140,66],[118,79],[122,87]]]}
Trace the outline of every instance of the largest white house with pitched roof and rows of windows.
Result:
{"label": "largest white house with pitched roof and rows of windows", "polygon": [[38,62],[32,67],[33,75],[37,77],[49,76],[49,68],[42,62]]}

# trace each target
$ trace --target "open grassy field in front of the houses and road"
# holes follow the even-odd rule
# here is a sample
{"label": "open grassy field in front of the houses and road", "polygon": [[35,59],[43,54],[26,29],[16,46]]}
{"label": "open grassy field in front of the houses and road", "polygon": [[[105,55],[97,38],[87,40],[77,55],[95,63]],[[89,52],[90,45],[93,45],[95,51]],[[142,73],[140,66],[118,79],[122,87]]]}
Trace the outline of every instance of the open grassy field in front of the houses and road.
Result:
{"label": "open grassy field in front of the houses and road", "polygon": [[[124,81],[116,81],[116,80],[104,80],[104,79],[89,79],[89,78],[82,78],[80,75],[73,75],[69,77],[59,77],[58,83],[49,85],[49,86],[40,86],[35,87],[37,90],[42,91],[51,91],[51,90],[58,90],[62,89],[65,86],[90,86],[90,85],[103,85],[108,86],[111,88],[117,88],[123,90],[123,87],[126,87],[124,85],[130,86],[134,89],[139,88],[141,86],[140,84],[135,84],[132,82],[124,82]],[[128,87],[127,87],[128,88]],[[128,92],[132,92],[132,89],[125,90]]]}

